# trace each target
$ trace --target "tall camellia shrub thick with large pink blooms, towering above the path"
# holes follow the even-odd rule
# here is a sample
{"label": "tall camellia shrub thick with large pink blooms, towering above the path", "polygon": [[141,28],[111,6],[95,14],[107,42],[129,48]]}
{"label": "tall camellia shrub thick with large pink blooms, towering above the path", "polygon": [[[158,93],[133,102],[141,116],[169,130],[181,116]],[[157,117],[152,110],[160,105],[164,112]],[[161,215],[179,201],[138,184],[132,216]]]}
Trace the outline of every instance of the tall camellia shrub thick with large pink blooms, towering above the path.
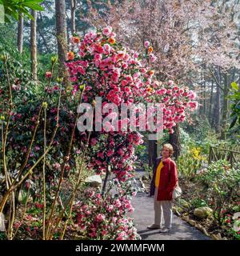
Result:
{"label": "tall camellia shrub thick with large pink blooms, towering above the path", "polygon": [[[173,133],[173,127],[186,119],[188,110],[197,108],[198,103],[194,101],[196,94],[186,86],[175,85],[173,81],[158,82],[154,79],[154,70],[148,66],[149,60],[154,62],[156,58],[150,42],[145,42],[146,54],[141,56],[140,53],[127,50],[118,44],[115,36],[112,28],[108,26],[97,33],[91,31],[82,40],[74,37],[74,51],[66,56],[72,94],[78,95],[82,86],[85,86],[83,102],[92,103],[95,97],[101,97],[102,113],[104,107],[110,106],[110,103],[118,106],[118,110],[122,103],[126,103],[127,106],[140,102],[162,103],[162,129]],[[102,122],[106,116],[118,116],[115,111],[110,109],[102,117],[96,115],[94,118]],[[138,113],[140,111],[141,108],[138,108]],[[113,129],[113,122],[121,128],[131,121],[130,118],[112,118],[112,123],[108,123],[110,131],[91,133],[89,167],[98,174],[104,174],[110,166],[117,178],[122,181],[132,176],[134,146],[142,144],[142,135],[130,129]],[[138,128],[142,123],[139,115],[135,121]],[[82,141],[86,140],[86,132],[82,132],[81,136]]]}

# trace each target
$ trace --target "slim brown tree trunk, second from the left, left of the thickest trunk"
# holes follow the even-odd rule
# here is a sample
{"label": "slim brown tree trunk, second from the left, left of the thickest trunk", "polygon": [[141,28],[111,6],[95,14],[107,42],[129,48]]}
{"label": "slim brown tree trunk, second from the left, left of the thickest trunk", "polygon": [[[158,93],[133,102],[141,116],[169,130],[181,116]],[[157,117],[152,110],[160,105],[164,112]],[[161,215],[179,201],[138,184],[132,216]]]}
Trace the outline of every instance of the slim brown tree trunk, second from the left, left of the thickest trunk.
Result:
{"label": "slim brown tree trunk, second from the left, left of the thickest trunk", "polygon": [[38,80],[37,76],[37,11],[32,10],[34,20],[31,20],[30,46],[31,46],[31,71],[32,78]]}

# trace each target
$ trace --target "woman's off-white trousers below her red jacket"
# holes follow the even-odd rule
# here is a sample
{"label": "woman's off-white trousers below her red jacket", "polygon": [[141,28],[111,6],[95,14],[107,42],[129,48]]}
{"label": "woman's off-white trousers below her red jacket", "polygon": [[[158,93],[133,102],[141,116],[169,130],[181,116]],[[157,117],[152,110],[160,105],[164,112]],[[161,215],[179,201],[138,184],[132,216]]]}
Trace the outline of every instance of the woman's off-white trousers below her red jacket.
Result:
{"label": "woman's off-white trousers below her red jacket", "polygon": [[165,227],[170,229],[173,221],[173,201],[157,201],[158,188],[154,192],[154,224],[162,227],[162,218],[164,218]]}

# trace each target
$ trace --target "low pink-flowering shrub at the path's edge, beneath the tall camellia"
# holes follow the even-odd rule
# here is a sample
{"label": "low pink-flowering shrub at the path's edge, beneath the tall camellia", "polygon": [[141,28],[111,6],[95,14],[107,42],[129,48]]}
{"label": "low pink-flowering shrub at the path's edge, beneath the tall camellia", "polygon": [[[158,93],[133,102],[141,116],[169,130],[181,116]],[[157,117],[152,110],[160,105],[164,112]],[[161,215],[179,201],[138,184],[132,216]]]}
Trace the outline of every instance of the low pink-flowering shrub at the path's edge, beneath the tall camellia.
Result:
{"label": "low pink-flowering shrub at the path's edge, beneath the tall camellia", "polygon": [[117,179],[110,182],[104,195],[92,188],[83,191],[81,201],[74,204],[75,225],[89,239],[140,239],[133,219],[127,217],[134,210],[130,199],[136,193],[133,182]]}

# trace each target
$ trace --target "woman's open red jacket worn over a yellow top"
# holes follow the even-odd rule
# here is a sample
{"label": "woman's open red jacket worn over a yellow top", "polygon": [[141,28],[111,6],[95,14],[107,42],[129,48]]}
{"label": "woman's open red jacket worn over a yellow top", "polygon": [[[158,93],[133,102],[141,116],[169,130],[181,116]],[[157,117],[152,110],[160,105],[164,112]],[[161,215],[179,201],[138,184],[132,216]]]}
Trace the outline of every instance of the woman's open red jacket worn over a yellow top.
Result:
{"label": "woman's open red jacket worn over a yellow top", "polygon": [[[154,194],[155,189],[155,177],[159,162],[162,158],[157,158],[154,164],[154,174],[151,182],[150,195]],[[158,186],[158,201],[172,200],[173,190],[178,182],[178,171],[177,166],[171,158],[162,160],[162,170],[160,174],[160,183]]]}

